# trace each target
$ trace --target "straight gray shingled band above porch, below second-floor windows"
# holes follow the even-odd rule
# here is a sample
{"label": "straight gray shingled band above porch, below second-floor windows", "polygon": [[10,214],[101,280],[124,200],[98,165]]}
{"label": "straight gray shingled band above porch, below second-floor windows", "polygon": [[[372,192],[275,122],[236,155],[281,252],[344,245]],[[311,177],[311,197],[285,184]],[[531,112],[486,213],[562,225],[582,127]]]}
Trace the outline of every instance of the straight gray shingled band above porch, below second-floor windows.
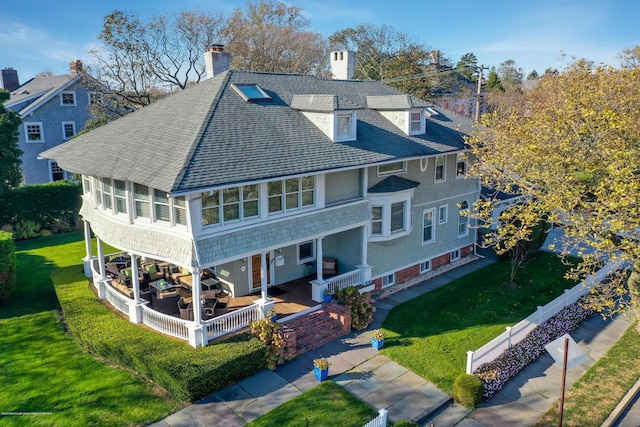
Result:
{"label": "straight gray shingled band above porch, below second-floor windows", "polygon": [[282,221],[240,229],[211,236],[196,242],[202,265],[231,261],[247,253],[256,253],[290,242],[313,239],[317,236],[362,226],[371,220],[369,202],[323,209],[309,215],[295,216]]}

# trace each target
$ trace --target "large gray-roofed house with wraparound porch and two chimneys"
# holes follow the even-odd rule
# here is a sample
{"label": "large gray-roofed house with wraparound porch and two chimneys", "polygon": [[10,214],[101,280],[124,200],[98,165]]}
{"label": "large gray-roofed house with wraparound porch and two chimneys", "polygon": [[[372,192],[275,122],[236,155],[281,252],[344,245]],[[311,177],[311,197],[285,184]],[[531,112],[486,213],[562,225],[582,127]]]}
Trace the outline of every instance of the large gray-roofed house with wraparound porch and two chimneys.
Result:
{"label": "large gray-roofed house with wraparound porch and two chimneys", "polygon": [[[321,302],[326,288],[381,292],[473,255],[470,120],[350,80],[352,52],[332,53],[334,80],[228,70],[228,55],[205,53],[210,77],[197,86],[41,154],[83,175],[99,297],[199,346],[237,314],[203,319],[203,270],[234,298],[259,291],[251,318],[272,304],[269,287],[309,275],[300,286]],[[191,274],[194,319],[160,325],[135,274],[130,297],[114,293],[102,242],[131,255],[133,271],[155,260]]]}

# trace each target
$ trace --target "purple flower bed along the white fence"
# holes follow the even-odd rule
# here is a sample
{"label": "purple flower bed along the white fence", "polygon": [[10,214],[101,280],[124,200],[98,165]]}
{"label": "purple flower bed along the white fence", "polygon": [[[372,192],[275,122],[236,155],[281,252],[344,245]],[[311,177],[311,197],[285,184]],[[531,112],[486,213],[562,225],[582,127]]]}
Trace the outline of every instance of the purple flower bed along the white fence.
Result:
{"label": "purple flower bed along the white fence", "polygon": [[492,362],[483,363],[473,372],[484,385],[485,399],[502,390],[507,381],[538,359],[544,353],[545,345],[576,330],[580,323],[594,314],[594,310],[584,307],[583,298],[542,322],[522,341],[505,350]]}

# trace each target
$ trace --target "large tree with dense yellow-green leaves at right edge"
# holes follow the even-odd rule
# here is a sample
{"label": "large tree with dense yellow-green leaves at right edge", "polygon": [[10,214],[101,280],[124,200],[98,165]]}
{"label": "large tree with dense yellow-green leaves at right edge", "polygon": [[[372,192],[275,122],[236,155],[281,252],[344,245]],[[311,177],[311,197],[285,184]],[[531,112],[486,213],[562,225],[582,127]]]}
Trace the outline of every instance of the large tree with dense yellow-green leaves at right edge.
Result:
{"label": "large tree with dense yellow-green leaves at right edge", "polygon": [[[472,175],[497,190],[531,197],[503,213],[517,219],[509,223],[518,224],[522,236],[548,217],[564,230],[565,252],[576,242],[589,248],[578,249],[576,278],[603,259],[633,264],[628,280],[628,271],[621,270],[591,295],[592,305],[609,314],[640,308],[638,99],[640,69],[594,69],[578,62],[542,76],[519,102],[484,115],[468,139],[478,159]],[[488,220],[490,209],[491,201],[479,203],[478,215]]]}

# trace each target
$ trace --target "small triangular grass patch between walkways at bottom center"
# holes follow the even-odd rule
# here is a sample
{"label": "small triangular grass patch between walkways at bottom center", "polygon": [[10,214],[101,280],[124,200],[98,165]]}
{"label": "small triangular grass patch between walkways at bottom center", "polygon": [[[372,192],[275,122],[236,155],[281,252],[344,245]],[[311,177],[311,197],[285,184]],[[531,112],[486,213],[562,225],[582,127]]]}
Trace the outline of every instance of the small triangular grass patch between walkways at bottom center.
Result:
{"label": "small triangular grass patch between walkways at bottom center", "polygon": [[333,381],[323,381],[247,424],[271,426],[361,427],[378,412]]}

